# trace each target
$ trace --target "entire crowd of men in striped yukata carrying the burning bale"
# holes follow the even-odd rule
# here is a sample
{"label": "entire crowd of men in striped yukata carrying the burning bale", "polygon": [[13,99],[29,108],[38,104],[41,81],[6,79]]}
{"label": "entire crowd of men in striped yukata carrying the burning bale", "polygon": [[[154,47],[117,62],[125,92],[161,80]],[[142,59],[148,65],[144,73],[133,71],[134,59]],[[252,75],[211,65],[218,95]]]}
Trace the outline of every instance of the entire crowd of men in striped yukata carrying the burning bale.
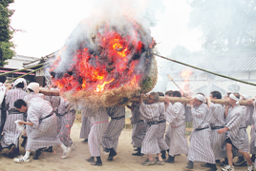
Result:
{"label": "entire crowd of men in striped yukata carrying the burning bale", "polygon": [[[63,149],[62,159],[67,158],[74,144],[70,132],[75,121],[75,108],[60,96],[39,93],[37,83],[27,86],[24,79],[17,79],[9,90],[4,83],[5,77],[0,77],[0,151],[9,148],[8,157],[19,155],[19,138],[22,136],[21,146],[26,153],[15,158],[15,162],[30,161],[31,151],[35,151],[33,160],[38,160],[42,151],[53,152],[53,145]],[[159,102],[160,96],[164,102]],[[147,155],[143,165],[174,163],[176,156],[184,154],[188,161],[184,170],[193,170],[194,162],[201,161],[205,162],[202,166],[208,167],[208,171],[218,170],[218,162],[224,166],[223,171],[233,171],[234,157],[239,157],[236,165],[247,164],[247,171],[255,169],[255,101],[246,95],[227,93],[228,105],[214,104],[213,99],[223,98],[219,91],[212,91],[206,98],[202,93],[194,98],[183,97],[189,99],[189,104],[170,103],[168,97],[181,98],[181,92],[170,90],[165,95],[151,92],[146,100],[141,94],[139,102],[127,106],[132,111],[132,145],[137,151],[132,155]],[[241,99],[250,105],[240,105]],[[101,146],[109,153],[108,161],[113,161],[125,124],[125,106],[84,106],[82,116],[80,138],[88,142],[91,154],[86,161],[101,166]],[[193,130],[188,145],[185,123],[190,122]],[[169,123],[167,128],[166,123]],[[252,125],[250,141],[246,132],[248,125]]]}

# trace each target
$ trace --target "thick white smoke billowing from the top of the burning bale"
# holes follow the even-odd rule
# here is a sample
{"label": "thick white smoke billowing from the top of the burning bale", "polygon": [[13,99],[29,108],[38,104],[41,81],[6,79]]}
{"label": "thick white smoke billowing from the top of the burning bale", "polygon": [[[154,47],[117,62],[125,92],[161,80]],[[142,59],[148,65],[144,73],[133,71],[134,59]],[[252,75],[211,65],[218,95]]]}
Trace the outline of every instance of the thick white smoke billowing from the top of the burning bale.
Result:
{"label": "thick white smoke billowing from the top of the burning bale", "polygon": [[[66,72],[69,66],[75,63],[73,56],[75,50],[79,48],[80,42],[93,41],[92,37],[97,32],[103,31],[104,28],[98,28],[103,23],[108,21],[111,27],[117,28],[119,32],[129,34],[133,40],[138,40],[138,35],[133,32],[135,28],[131,23],[127,23],[124,17],[130,18],[139,23],[143,28],[144,34],[141,41],[148,47],[152,38],[150,36],[150,28],[157,23],[156,13],[162,10],[160,0],[97,0],[90,17],[85,18],[74,29],[69,38],[64,44],[65,50],[60,55],[60,63],[54,69],[56,72]],[[86,11],[85,11],[86,12]],[[102,29],[102,30],[100,30]],[[123,30],[125,29],[125,30]],[[90,49],[95,49],[95,44],[88,44]],[[58,53],[56,53],[57,55]]]}

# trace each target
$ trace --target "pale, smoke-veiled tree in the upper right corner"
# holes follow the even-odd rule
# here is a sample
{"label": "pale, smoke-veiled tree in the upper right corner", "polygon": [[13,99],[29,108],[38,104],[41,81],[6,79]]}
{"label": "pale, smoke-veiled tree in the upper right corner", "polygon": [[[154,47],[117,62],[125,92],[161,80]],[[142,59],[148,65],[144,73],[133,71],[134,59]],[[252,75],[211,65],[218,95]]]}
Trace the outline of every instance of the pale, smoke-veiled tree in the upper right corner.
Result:
{"label": "pale, smoke-veiled tree in the upper right corner", "polygon": [[256,0],[190,0],[189,5],[189,27],[202,30],[205,50],[255,51]]}

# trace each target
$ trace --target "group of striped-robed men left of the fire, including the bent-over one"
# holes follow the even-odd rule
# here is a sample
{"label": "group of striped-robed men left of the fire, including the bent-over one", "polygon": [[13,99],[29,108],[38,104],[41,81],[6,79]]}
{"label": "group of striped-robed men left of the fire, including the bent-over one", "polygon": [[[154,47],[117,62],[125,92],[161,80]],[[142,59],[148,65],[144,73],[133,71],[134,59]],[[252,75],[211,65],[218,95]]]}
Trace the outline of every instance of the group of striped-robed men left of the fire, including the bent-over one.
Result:
{"label": "group of striped-robed men left of the fire, including the bent-over one", "polygon": [[[39,84],[17,79],[11,89],[1,83],[1,145],[0,151],[8,148],[7,156],[15,162],[30,161],[31,152],[38,160],[42,151],[53,152],[53,145],[63,149],[62,159],[67,158],[73,144],[71,126],[75,121],[75,108],[60,96],[47,97],[39,93]],[[19,156],[19,138],[22,135],[26,153]]]}

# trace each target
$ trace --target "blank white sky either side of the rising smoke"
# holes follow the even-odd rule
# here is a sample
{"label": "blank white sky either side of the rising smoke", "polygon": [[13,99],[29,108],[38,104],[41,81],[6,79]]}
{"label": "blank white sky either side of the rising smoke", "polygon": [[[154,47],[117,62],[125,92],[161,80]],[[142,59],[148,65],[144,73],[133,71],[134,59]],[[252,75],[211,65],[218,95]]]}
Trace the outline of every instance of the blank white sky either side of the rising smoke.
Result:
{"label": "blank white sky either side of the rising smoke", "polygon": [[[100,10],[98,7],[103,1],[16,0],[10,6],[15,10],[11,27],[23,30],[13,34],[16,54],[40,58],[58,50],[82,19],[92,17],[93,12]],[[111,10],[115,1],[108,1],[109,7],[104,8]],[[141,0],[143,3],[149,1],[154,0]],[[186,0],[162,0],[162,7],[156,6],[157,25],[150,28],[160,54],[170,55],[177,45],[190,51],[200,50],[200,31],[187,28],[191,9]]]}

